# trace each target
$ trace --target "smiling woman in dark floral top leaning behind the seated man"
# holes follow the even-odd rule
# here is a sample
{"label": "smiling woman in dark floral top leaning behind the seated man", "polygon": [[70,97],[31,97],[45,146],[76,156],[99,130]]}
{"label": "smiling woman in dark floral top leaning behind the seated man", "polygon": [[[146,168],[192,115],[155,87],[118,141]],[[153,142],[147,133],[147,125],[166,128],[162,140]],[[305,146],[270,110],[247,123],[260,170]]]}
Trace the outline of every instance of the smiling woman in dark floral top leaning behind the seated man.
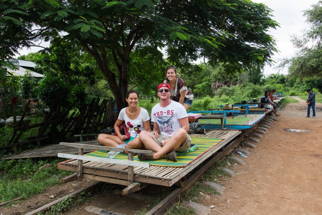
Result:
{"label": "smiling woman in dark floral top leaning behind the seated man", "polygon": [[170,98],[182,104],[185,107],[185,110],[188,110],[192,104],[194,95],[187,88],[185,81],[182,78],[177,77],[175,66],[166,67],[166,80],[164,80],[163,83],[170,85]]}

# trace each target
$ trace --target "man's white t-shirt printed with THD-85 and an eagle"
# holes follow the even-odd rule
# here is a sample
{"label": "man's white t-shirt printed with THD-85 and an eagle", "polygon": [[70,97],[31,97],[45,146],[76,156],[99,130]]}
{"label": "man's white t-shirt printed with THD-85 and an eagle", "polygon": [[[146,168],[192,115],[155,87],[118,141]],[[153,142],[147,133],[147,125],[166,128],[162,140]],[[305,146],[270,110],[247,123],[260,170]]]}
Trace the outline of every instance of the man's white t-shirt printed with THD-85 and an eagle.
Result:
{"label": "man's white t-shirt printed with THD-85 and an eagle", "polygon": [[181,128],[179,119],[187,116],[185,107],[171,100],[171,103],[164,108],[160,106],[160,103],[152,108],[151,121],[159,125],[162,135],[173,136]]}

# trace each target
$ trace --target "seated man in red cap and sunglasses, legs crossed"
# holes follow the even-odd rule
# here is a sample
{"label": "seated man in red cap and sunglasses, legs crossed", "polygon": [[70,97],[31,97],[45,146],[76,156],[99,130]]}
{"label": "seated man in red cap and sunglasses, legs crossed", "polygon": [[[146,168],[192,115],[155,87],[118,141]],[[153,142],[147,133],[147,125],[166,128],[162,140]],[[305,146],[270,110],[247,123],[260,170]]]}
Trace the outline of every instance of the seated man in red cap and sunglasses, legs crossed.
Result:
{"label": "seated man in red cap and sunglasses, legs crossed", "polygon": [[[187,151],[191,145],[191,138],[187,133],[188,114],[182,104],[170,100],[169,84],[161,83],[157,95],[160,103],[151,112],[153,131],[142,131],[139,137],[145,147],[154,152],[139,153],[137,157],[140,160],[156,160],[164,156],[168,160],[177,161],[175,151]],[[160,136],[157,137],[157,134]]]}

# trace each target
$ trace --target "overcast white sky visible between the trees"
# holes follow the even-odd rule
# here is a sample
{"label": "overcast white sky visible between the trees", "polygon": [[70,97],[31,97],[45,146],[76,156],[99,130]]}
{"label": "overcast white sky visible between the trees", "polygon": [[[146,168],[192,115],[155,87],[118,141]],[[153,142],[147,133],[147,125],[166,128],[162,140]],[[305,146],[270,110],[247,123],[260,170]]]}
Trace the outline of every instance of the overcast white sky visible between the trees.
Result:
{"label": "overcast white sky visible between the trees", "polygon": [[[303,11],[311,8],[311,5],[316,4],[318,0],[252,0],[256,3],[264,3],[271,10],[273,10],[273,20],[279,23],[276,30],[270,29],[270,35],[276,39],[277,49],[279,53],[275,53],[272,56],[275,65],[266,65],[264,68],[264,75],[267,76],[271,73],[279,72],[274,67],[278,65],[278,61],[283,58],[290,58],[294,56],[296,49],[293,47],[290,39],[294,34],[301,34],[305,28],[308,28],[308,24],[305,22],[306,18],[303,17]],[[49,43],[42,43],[44,47],[48,47]],[[20,54],[28,54],[30,52],[36,52],[41,50],[39,47],[32,47],[32,49],[21,50]],[[280,73],[286,74],[287,68]]]}

